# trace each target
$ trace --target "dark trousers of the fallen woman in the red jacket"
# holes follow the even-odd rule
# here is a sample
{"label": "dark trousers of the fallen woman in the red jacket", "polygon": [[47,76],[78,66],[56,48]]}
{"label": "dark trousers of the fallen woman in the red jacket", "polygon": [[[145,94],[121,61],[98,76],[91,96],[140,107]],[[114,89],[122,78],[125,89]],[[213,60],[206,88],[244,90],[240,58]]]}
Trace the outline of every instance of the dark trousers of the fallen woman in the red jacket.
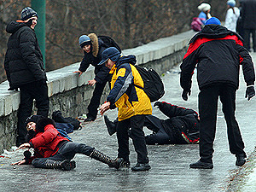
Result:
{"label": "dark trousers of the fallen woman in the red jacket", "polygon": [[75,154],[85,154],[90,156],[94,148],[87,146],[83,143],[67,142],[58,150],[58,152],[48,158],[36,158],[32,160],[32,166],[37,168],[47,168],[45,166],[46,160],[72,160]]}

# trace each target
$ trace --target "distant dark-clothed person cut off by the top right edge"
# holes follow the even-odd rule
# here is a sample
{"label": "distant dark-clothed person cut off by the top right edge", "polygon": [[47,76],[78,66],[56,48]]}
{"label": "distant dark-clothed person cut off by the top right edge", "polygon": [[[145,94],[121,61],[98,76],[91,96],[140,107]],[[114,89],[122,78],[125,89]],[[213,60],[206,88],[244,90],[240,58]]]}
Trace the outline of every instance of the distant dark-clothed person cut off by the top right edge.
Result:
{"label": "distant dark-clothed person cut off by the top right edge", "polygon": [[253,51],[256,52],[256,0],[241,1],[241,23],[244,47],[250,51],[250,34],[252,34]]}

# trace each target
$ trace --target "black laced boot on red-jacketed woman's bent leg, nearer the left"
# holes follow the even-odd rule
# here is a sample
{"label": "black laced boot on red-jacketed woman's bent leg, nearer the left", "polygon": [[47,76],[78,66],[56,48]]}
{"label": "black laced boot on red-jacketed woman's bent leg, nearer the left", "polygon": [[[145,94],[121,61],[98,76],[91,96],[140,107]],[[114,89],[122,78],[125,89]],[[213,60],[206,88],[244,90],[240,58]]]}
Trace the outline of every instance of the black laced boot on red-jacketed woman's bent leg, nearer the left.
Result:
{"label": "black laced boot on red-jacketed woman's bent leg, nearer the left", "polygon": [[65,171],[70,171],[76,167],[76,162],[73,160],[46,160],[45,166],[49,169],[62,169]]}

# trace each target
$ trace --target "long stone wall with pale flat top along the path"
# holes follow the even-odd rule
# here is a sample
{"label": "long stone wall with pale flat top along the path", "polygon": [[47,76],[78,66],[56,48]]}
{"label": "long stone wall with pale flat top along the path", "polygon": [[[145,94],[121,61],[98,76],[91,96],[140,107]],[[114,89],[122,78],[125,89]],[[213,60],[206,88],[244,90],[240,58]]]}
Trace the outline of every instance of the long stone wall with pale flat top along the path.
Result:
{"label": "long stone wall with pale flat top along the path", "polygon": [[[189,39],[194,34],[195,32],[189,31],[169,38],[160,38],[134,49],[125,49],[123,55],[136,55],[137,64],[153,67],[160,74],[165,73],[182,61]],[[73,73],[78,68],[79,63],[75,63],[47,73],[49,117],[55,110],[61,110],[63,116],[72,117],[87,113],[87,106],[93,93],[93,88],[88,86],[87,82],[94,78],[94,67],[89,67],[80,77]],[[7,81],[0,84],[0,153],[3,148],[15,145],[20,92],[8,89]],[[106,100],[106,96],[108,86],[104,90],[102,102]]]}

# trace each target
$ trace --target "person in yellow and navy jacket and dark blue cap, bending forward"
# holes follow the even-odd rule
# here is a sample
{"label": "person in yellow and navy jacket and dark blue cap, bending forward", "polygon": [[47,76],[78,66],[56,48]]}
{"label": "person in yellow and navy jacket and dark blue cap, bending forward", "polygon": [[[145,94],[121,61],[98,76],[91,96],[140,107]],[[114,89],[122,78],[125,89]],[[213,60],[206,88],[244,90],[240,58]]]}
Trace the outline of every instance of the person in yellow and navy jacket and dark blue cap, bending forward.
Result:
{"label": "person in yellow and navy jacket and dark blue cap, bending forward", "polygon": [[[110,47],[102,52],[102,61],[110,68],[113,74],[111,90],[107,102],[100,108],[101,114],[108,109],[118,108],[117,139],[119,144],[118,157],[125,160],[126,166],[130,166],[129,160],[129,136],[131,127],[132,142],[137,152],[137,165],[132,166],[135,172],[148,171],[148,151],[146,147],[143,124],[145,115],[152,114],[151,102],[143,89],[143,79],[136,67],[135,55],[121,56],[118,49]],[[137,86],[136,86],[137,85]]]}

